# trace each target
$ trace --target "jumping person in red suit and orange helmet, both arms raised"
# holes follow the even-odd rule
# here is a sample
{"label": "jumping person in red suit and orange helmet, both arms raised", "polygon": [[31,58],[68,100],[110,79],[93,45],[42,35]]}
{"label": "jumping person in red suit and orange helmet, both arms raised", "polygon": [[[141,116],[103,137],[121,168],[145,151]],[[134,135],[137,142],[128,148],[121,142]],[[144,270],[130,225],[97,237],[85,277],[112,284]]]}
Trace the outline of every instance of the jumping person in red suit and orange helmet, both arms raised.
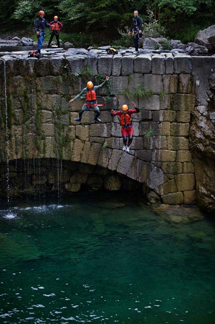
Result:
{"label": "jumping person in red suit and orange helmet, both arms raised", "polygon": [[[123,136],[123,151],[129,152],[130,145],[132,144],[134,130],[132,127],[132,114],[139,113],[140,110],[136,107],[136,104],[132,102],[135,109],[129,109],[127,105],[122,105],[122,110],[114,111],[111,110],[111,116],[120,117],[121,132]],[[127,144],[128,137],[128,144]]]}

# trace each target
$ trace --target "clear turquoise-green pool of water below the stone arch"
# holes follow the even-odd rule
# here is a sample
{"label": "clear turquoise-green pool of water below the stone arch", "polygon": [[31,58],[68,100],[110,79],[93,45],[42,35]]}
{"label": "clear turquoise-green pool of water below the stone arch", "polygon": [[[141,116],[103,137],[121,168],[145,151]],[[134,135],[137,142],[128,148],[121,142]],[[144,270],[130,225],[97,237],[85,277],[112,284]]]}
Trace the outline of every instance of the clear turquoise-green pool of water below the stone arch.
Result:
{"label": "clear turquoise-green pool of water below the stone arch", "polygon": [[0,210],[0,323],[215,323],[210,218],[98,193],[16,205]]}

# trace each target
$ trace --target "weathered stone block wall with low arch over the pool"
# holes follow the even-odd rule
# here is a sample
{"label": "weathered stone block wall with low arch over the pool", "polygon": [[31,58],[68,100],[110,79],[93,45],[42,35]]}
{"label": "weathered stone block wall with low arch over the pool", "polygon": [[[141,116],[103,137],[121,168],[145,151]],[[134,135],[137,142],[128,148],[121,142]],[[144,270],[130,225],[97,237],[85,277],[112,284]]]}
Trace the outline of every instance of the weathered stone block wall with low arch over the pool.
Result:
{"label": "weathered stone block wall with low arch over the pool", "polygon": [[[6,66],[8,148],[5,137],[5,86],[0,80],[0,159],[57,158],[100,165],[143,183],[148,197],[164,203],[195,203],[195,174],[189,129],[196,95],[190,56],[163,53],[105,55],[70,51],[50,58],[0,59],[0,75]],[[78,116],[82,100],[69,104],[88,79],[110,76],[110,89],[98,93],[102,123],[94,113]],[[149,96],[137,99],[144,87]],[[128,99],[125,95],[128,95]],[[122,152],[121,127],[111,109],[135,101],[141,112],[134,116],[134,140],[130,154]],[[152,129],[152,136],[147,137]],[[1,176],[1,175],[0,175]],[[1,178],[0,178],[1,180]]]}

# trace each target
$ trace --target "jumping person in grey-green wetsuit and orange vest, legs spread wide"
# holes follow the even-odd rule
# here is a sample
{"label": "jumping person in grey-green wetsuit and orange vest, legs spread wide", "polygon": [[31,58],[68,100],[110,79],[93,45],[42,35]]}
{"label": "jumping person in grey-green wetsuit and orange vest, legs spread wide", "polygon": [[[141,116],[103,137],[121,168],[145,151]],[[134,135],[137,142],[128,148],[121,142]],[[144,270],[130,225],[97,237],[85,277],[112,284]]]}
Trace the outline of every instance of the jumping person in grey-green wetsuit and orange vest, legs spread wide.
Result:
{"label": "jumping person in grey-green wetsuit and orange vest, legs spread wide", "polygon": [[70,103],[72,103],[74,100],[80,98],[81,95],[86,95],[85,104],[81,107],[81,110],[79,111],[79,117],[74,118],[76,122],[80,122],[83,112],[90,110],[90,108],[92,108],[95,112],[95,121],[101,122],[101,120],[98,118],[101,112],[97,105],[95,92],[96,90],[102,88],[108,82],[108,80],[109,76],[106,76],[105,81],[98,86],[93,86],[92,81],[88,81],[86,88],[82,89],[82,91],[78,95],[76,95],[76,97],[70,100]]}

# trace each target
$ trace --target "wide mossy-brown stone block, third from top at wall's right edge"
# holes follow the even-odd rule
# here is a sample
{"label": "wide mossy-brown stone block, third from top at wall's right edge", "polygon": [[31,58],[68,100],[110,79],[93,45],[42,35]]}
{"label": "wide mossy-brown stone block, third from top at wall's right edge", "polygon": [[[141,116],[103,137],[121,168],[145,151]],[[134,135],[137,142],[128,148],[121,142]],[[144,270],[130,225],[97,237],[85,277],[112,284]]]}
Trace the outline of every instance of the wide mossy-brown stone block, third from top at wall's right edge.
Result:
{"label": "wide mossy-brown stone block, third from top at wall's right edge", "polygon": [[176,111],[194,111],[195,102],[195,95],[175,94],[172,98],[172,107]]}

